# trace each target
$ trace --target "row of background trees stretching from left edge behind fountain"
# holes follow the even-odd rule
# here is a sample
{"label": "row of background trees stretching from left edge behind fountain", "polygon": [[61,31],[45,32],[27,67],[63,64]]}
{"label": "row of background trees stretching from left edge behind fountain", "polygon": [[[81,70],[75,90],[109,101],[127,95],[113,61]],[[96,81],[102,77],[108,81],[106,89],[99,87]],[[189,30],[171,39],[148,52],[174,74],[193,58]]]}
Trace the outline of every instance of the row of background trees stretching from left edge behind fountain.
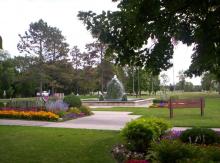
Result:
{"label": "row of background trees stretching from left edge behind fountain", "polygon": [[86,94],[104,92],[114,74],[129,93],[156,93],[160,81],[150,71],[116,66],[115,58],[105,55],[106,46],[89,43],[81,52],[69,48],[62,32],[43,20],[31,23],[28,31],[19,35],[18,50],[23,56],[11,58],[0,51],[0,96],[27,97],[36,92]]}

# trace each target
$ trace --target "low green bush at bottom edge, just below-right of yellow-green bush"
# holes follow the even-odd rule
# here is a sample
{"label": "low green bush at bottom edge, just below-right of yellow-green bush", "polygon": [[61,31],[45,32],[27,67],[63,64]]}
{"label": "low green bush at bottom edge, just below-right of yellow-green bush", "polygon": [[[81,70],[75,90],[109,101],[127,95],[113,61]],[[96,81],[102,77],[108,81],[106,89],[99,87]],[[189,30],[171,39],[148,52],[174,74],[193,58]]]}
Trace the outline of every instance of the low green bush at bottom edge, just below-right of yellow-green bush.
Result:
{"label": "low green bush at bottom edge, just below-right of yellow-green bush", "polygon": [[199,158],[201,152],[198,147],[183,144],[178,141],[163,140],[153,143],[147,159],[160,163],[187,162],[193,158]]}

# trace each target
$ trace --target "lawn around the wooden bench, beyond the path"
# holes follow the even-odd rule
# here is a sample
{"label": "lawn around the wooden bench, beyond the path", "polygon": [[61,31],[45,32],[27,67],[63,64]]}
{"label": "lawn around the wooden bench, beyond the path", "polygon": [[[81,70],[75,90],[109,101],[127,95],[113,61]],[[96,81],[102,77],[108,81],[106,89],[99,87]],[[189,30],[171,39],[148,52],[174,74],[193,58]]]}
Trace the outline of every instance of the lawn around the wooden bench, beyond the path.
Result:
{"label": "lawn around the wooden bench, beyond the path", "polygon": [[200,116],[200,109],[174,109],[174,118],[169,119],[168,108],[97,108],[94,111],[129,111],[135,115],[142,115],[142,117],[158,117],[170,121],[173,126],[179,127],[213,127],[220,128],[220,98],[205,98],[205,116]]}

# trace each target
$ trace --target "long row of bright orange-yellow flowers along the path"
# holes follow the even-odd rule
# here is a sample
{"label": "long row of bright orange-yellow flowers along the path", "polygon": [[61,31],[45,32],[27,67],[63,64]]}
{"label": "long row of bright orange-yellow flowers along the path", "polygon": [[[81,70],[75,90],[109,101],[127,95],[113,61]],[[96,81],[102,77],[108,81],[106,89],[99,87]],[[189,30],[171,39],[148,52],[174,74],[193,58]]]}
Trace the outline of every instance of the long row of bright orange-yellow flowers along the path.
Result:
{"label": "long row of bright orange-yellow flowers along the path", "polygon": [[15,110],[1,110],[0,118],[15,118],[28,120],[49,120],[57,121],[59,116],[45,111],[15,111]]}

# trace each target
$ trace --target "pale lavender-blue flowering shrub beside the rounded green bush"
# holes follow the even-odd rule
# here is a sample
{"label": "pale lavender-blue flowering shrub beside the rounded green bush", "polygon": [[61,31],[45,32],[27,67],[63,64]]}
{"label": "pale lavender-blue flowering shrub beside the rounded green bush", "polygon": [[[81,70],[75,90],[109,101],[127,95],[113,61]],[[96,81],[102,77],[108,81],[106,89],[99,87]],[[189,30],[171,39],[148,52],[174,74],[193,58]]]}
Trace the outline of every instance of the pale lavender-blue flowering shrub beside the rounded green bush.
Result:
{"label": "pale lavender-blue flowering shrub beside the rounded green bush", "polygon": [[68,110],[68,104],[63,102],[62,100],[49,100],[45,104],[46,110],[53,112],[53,113],[58,113],[60,111],[67,111]]}

